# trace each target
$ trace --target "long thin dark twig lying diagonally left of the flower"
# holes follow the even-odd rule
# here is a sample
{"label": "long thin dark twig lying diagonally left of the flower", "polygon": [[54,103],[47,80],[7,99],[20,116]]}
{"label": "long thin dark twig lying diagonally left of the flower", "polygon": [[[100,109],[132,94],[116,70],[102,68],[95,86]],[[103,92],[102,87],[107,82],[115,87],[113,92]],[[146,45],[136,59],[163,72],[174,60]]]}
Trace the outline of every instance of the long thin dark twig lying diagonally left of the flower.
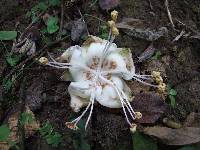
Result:
{"label": "long thin dark twig lying diagonally left of the flower", "polygon": [[19,63],[15,68],[13,68],[10,73],[5,77],[5,80],[8,80],[10,78],[10,76],[15,73],[17,70],[20,70],[21,67],[23,67],[28,61],[34,59],[36,56],[38,55],[43,55],[47,50],[46,48],[48,47],[52,47],[53,45],[65,40],[66,38],[68,38],[69,36],[66,36],[62,39],[59,39],[57,41],[54,41],[52,43],[49,43],[47,45],[45,45],[43,48],[41,48],[40,50],[38,50],[34,55],[31,55],[30,57],[27,57],[24,61],[22,61],[21,63]]}

